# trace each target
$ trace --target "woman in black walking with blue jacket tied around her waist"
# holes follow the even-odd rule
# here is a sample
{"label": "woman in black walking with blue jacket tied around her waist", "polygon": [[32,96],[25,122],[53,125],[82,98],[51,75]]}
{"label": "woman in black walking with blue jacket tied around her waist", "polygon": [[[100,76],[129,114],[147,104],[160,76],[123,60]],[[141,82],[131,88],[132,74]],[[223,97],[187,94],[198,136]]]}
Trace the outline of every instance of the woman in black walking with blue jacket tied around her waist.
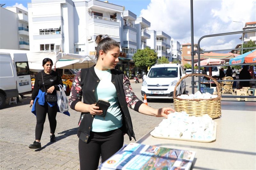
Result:
{"label": "woman in black walking with blue jacket tied around her waist", "polygon": [[63,87],[63,83],[60,75],[52,70],[52,65],[52,60],[45,58],[43,60],[44,70],[36,74],[35,85],[30,101],[30,106],[33,105],[32,113],[36,115],[36,140],[33,144],[29,145],[30,149],[41,148],[40,141],[47,113],[51,130],[50,142],[56,141],[54,132],[57,125],[57,102],[46,102],[45,93],[56,95],[56,90],[60,90],[58,85],[60,84]]}

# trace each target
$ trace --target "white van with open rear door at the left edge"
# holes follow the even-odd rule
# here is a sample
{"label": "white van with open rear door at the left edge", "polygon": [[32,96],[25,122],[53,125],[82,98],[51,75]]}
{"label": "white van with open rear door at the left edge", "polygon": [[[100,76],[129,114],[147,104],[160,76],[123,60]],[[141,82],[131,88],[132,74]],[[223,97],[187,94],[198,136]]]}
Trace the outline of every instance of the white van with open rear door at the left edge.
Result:
{"label": "white van with open rear door at the left edge", "polygon": [[8,98],[31,91],[31,78],[26,53],[0,52],[0,109]]}

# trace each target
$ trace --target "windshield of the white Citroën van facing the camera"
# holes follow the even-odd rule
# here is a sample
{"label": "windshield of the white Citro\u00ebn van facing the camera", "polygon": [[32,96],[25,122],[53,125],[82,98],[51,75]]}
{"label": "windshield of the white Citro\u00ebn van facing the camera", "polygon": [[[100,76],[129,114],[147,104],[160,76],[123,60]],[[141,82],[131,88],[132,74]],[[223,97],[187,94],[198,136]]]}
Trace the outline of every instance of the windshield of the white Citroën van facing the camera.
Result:
{"label": "windshield of the white Citro\u00ebn van facing the camera", "polygon": [[178,67],[151,68],[148,77],[178,77]]}

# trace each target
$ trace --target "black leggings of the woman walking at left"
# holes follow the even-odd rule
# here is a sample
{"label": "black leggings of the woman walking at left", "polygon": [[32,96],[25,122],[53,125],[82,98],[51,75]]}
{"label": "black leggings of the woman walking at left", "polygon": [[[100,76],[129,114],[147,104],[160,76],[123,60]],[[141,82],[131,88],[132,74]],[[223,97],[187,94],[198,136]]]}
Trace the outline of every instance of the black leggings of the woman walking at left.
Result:
{"label": "black leggings of the woman walking at left", "polygon": [[53,134],[56,129],[57,121],[57,105],[50,107],[47,102],[44,106],[36,101],[36,140],[41,140],[41,136],[44,130],[44,122],[46,118],[46,113],[48,113],[48,119],[50,122],[51,133]]}

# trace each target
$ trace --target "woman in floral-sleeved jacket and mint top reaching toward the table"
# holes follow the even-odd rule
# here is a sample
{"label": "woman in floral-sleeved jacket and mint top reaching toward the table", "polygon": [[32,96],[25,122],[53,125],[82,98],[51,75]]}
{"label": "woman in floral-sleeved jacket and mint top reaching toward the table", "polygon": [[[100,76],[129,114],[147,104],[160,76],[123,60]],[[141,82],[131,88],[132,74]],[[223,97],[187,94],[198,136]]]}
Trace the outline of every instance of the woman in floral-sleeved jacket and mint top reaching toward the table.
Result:
{"label": "woman in floral-sleeved jacket and mint top reaching toward the table", "polygon": [[[135,139],[128,107],[155,117],[167,117],[174,111],[153,109],[135,96],[127,75],[115,69],[120,54],[118,42],[98,35],[96,43],[97,64],[77,72],[69,98],[70,108],[82,112],[77,133],[82,170],[95,170],[100,155],[104,162],[115,154],[124,145],[124,134]],[[110,103],[105,117],[100,116],[102,110],[95,105],[99,99]]]}

